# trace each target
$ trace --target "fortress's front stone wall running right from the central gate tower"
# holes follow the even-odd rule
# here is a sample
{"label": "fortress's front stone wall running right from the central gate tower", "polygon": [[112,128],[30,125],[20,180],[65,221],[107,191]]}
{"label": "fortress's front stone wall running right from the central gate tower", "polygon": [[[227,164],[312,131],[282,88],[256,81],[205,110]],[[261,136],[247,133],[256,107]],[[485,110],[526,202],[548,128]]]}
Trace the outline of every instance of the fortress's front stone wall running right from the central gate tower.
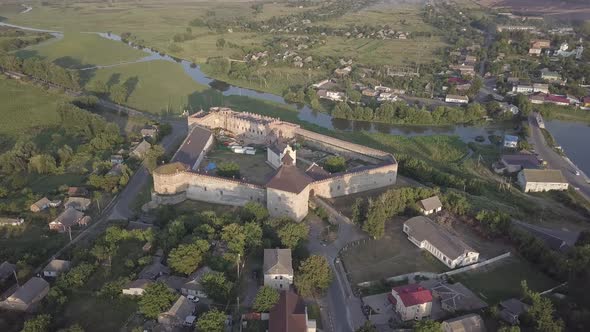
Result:
{"label": "fortress's front stone wall running right from the central gate tower", "polygon": [[314,195],[333,198],[391,186],[395,184],[396,180],[397,164],[389,164],[317,181],[310,186]]}

